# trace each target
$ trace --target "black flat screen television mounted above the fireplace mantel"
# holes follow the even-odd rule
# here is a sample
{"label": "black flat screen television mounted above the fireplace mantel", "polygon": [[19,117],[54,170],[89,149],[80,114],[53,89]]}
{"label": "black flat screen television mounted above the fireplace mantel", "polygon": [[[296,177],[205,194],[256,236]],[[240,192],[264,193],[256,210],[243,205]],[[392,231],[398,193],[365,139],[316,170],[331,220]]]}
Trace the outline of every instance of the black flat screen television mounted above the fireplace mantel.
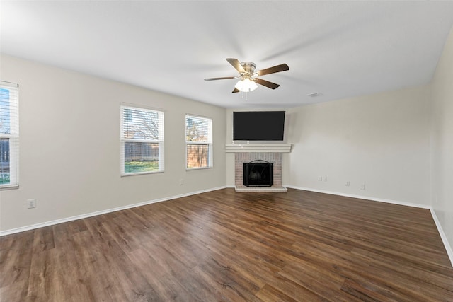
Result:
{"label": "black flat screen television mounted above the fireplace mantel", "polygon": [[233,112],[234,141],[283,141],[285,111]]}

